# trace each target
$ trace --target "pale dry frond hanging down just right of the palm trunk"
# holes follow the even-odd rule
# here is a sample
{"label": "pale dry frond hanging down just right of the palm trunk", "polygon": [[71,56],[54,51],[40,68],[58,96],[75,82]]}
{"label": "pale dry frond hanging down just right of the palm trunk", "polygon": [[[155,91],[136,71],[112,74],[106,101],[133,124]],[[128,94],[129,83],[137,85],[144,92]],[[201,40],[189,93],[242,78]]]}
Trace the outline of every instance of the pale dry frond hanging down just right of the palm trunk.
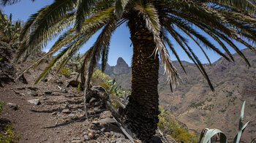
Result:
{"label": "pale dry frond hanging down just right of the palm trunk", "polygon": [[143,4],[142,1],[137,1],[135,9],[137,9],[139,13],[143,15],[144,20],[146,20],[146,27],[154,36],[154,42],[156,44],[155,54],[159,52],[162,63],[164,63],[165,71],[167,72],[167,80],[170,81],[173,88],[175,88],[181,78],[176,68],[173,66],[173,63],[170,61],[166,47],[162,43],[160,37],[161,25],[159,23],[157,9],[150,3]]}

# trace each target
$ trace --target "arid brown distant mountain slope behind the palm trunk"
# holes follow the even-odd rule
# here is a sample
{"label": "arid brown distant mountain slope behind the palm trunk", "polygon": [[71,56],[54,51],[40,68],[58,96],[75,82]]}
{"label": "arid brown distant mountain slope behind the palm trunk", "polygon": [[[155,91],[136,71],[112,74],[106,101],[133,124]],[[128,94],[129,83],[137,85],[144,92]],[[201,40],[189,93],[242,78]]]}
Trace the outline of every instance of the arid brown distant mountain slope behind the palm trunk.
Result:
{"label": "arid brown distant mountain slope behind the palm trunk", "polygon": [[[159,101],[172,112],[178,120],[190,129],[201,131],[203,128],[219,128],[233,138],[238,128],[241,104],[246,100],[245,121],[250,120],[243,139],[246,142],[256,136],[256,54],[242,50],[251,67],[238,55],[233,54],[234,63],[219,58],[218,61],[204,64],[215,91],[212,92],[206,80],[193,63],[183,61],[187,74],[184,74],[177,61],[173,61],[182,78],[182,84],[170,92],[170,86],[163,75],[163,65],[159,68]],[[116,66],[108,66],[105,71],[123,88],[131,87],[130,68],[125,63],[118,64],[123,70],[114,74]],[[249,69],[248,69],[249,68]]]}

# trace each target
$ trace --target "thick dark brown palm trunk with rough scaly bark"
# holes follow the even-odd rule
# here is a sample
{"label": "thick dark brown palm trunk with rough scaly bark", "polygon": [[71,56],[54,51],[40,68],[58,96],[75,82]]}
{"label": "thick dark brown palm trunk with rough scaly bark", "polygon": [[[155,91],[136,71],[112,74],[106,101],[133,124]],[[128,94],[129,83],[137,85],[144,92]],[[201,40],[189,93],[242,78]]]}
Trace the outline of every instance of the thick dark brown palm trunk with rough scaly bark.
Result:
{"label": "thick dark brown palm trunk with rough scaly bark", "polygon": [[159,58],[154,55],[153,35],[143,18],[132,17],[128,23],[133,45],[132,95],[127,105],[127,123],[138,139],[148,142],[155,134],[159,115]]}

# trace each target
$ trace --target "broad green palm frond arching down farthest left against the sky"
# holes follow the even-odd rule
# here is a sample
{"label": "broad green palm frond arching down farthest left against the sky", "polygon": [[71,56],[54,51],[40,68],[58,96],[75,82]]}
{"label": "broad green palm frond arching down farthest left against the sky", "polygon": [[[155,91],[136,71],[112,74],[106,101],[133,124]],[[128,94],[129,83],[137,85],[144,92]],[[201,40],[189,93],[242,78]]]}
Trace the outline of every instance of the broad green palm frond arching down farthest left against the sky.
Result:
{"label": "broad green palm frond arching down farthest left against the sky", "polygon": [[[75,5],[76,0],[55,0],[53,4],[46,6],[37,16],[37,20],[31,25],[33,30],[29,34],[29,38],[25,39],[26,50],[29,53],[39,51],[43,44],[46,44],[56,34],[56,31],[61,31],[61,29],[71,23],[72,20],[67,17],[72,17],[72,15],[66,14],[74,9]],[[63,23],[58,28],[57,24],[61,23],[60,20]]]}

